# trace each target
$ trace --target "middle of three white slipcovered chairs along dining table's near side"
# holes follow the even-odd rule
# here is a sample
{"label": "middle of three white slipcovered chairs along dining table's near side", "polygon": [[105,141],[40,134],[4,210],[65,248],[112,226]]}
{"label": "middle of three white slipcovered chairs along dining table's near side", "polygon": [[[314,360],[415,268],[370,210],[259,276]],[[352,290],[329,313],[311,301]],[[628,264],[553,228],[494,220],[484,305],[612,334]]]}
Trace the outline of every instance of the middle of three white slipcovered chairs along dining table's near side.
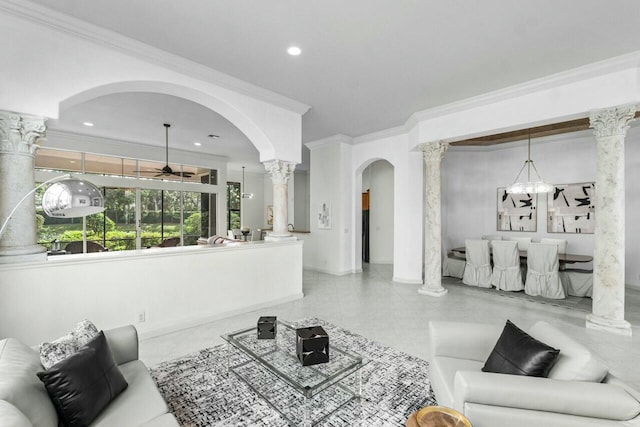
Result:
{"label": "middle of three white slipcovered chairs along dining table's near side", "polygon": [[518,242],[494,240],[491,244],[493,246],[491,284],[502,291],[523,290]]}

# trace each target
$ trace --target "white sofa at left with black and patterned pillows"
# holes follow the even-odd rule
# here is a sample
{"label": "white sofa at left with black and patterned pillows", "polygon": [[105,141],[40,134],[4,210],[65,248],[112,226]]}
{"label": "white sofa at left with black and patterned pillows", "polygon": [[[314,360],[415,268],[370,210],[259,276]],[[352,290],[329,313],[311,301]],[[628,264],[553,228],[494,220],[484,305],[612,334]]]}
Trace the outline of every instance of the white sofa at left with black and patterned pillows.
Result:
{"label": "white sofa at left with black and patterned pillows", "polygon": [[[104,331],[128,387],[91,423],[92,427],[178,427],[155,382],[138,360],[133,326]],[[15,338],[0,340],[0,426],[58,427],[49,395],[36,376],[40,355]]]}

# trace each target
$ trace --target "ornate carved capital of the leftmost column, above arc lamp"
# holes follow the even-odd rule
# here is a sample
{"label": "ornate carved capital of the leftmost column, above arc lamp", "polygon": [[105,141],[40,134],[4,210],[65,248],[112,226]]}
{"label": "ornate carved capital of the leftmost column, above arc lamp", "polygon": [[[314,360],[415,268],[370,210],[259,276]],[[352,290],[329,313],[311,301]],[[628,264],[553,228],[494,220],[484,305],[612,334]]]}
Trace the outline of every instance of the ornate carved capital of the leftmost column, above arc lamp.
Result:
{"label": "ornate carved capital of the leftmost column, above arc lamp", "polygon": [[0,153],[34,156],[45,138],[46,119],[0,111]]}

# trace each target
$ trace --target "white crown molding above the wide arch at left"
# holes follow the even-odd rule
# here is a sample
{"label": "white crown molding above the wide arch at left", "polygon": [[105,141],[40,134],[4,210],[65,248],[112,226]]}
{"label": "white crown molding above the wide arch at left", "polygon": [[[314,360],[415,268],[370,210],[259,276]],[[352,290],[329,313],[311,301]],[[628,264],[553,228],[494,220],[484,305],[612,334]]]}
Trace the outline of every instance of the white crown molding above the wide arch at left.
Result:
{"label": "white crown molding above the wide arch at left", "polygon": [[198,62],[155,48],[29,0],[0,0],[0,11],[71,37],[102,45],[136,59],[259,99],[300,115],[303,115],[311,108],[302,102],[216,71]]}

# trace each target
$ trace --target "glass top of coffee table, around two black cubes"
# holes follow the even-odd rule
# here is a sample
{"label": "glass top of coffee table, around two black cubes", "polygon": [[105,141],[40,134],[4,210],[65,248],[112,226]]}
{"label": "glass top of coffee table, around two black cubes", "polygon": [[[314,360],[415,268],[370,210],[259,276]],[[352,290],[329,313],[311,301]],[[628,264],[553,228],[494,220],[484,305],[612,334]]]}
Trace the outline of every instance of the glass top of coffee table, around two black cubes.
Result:
{"label": "glass top of coffee table, around two black cubes", "polygon": [[363,364],[360,355],[333,345],[329,336],[329,362],[302,366],[296,355],[296,328],[280,320],[275,339],[258,339],[256,327],[231,332],[222,338],[307,398],[353,374]]}

